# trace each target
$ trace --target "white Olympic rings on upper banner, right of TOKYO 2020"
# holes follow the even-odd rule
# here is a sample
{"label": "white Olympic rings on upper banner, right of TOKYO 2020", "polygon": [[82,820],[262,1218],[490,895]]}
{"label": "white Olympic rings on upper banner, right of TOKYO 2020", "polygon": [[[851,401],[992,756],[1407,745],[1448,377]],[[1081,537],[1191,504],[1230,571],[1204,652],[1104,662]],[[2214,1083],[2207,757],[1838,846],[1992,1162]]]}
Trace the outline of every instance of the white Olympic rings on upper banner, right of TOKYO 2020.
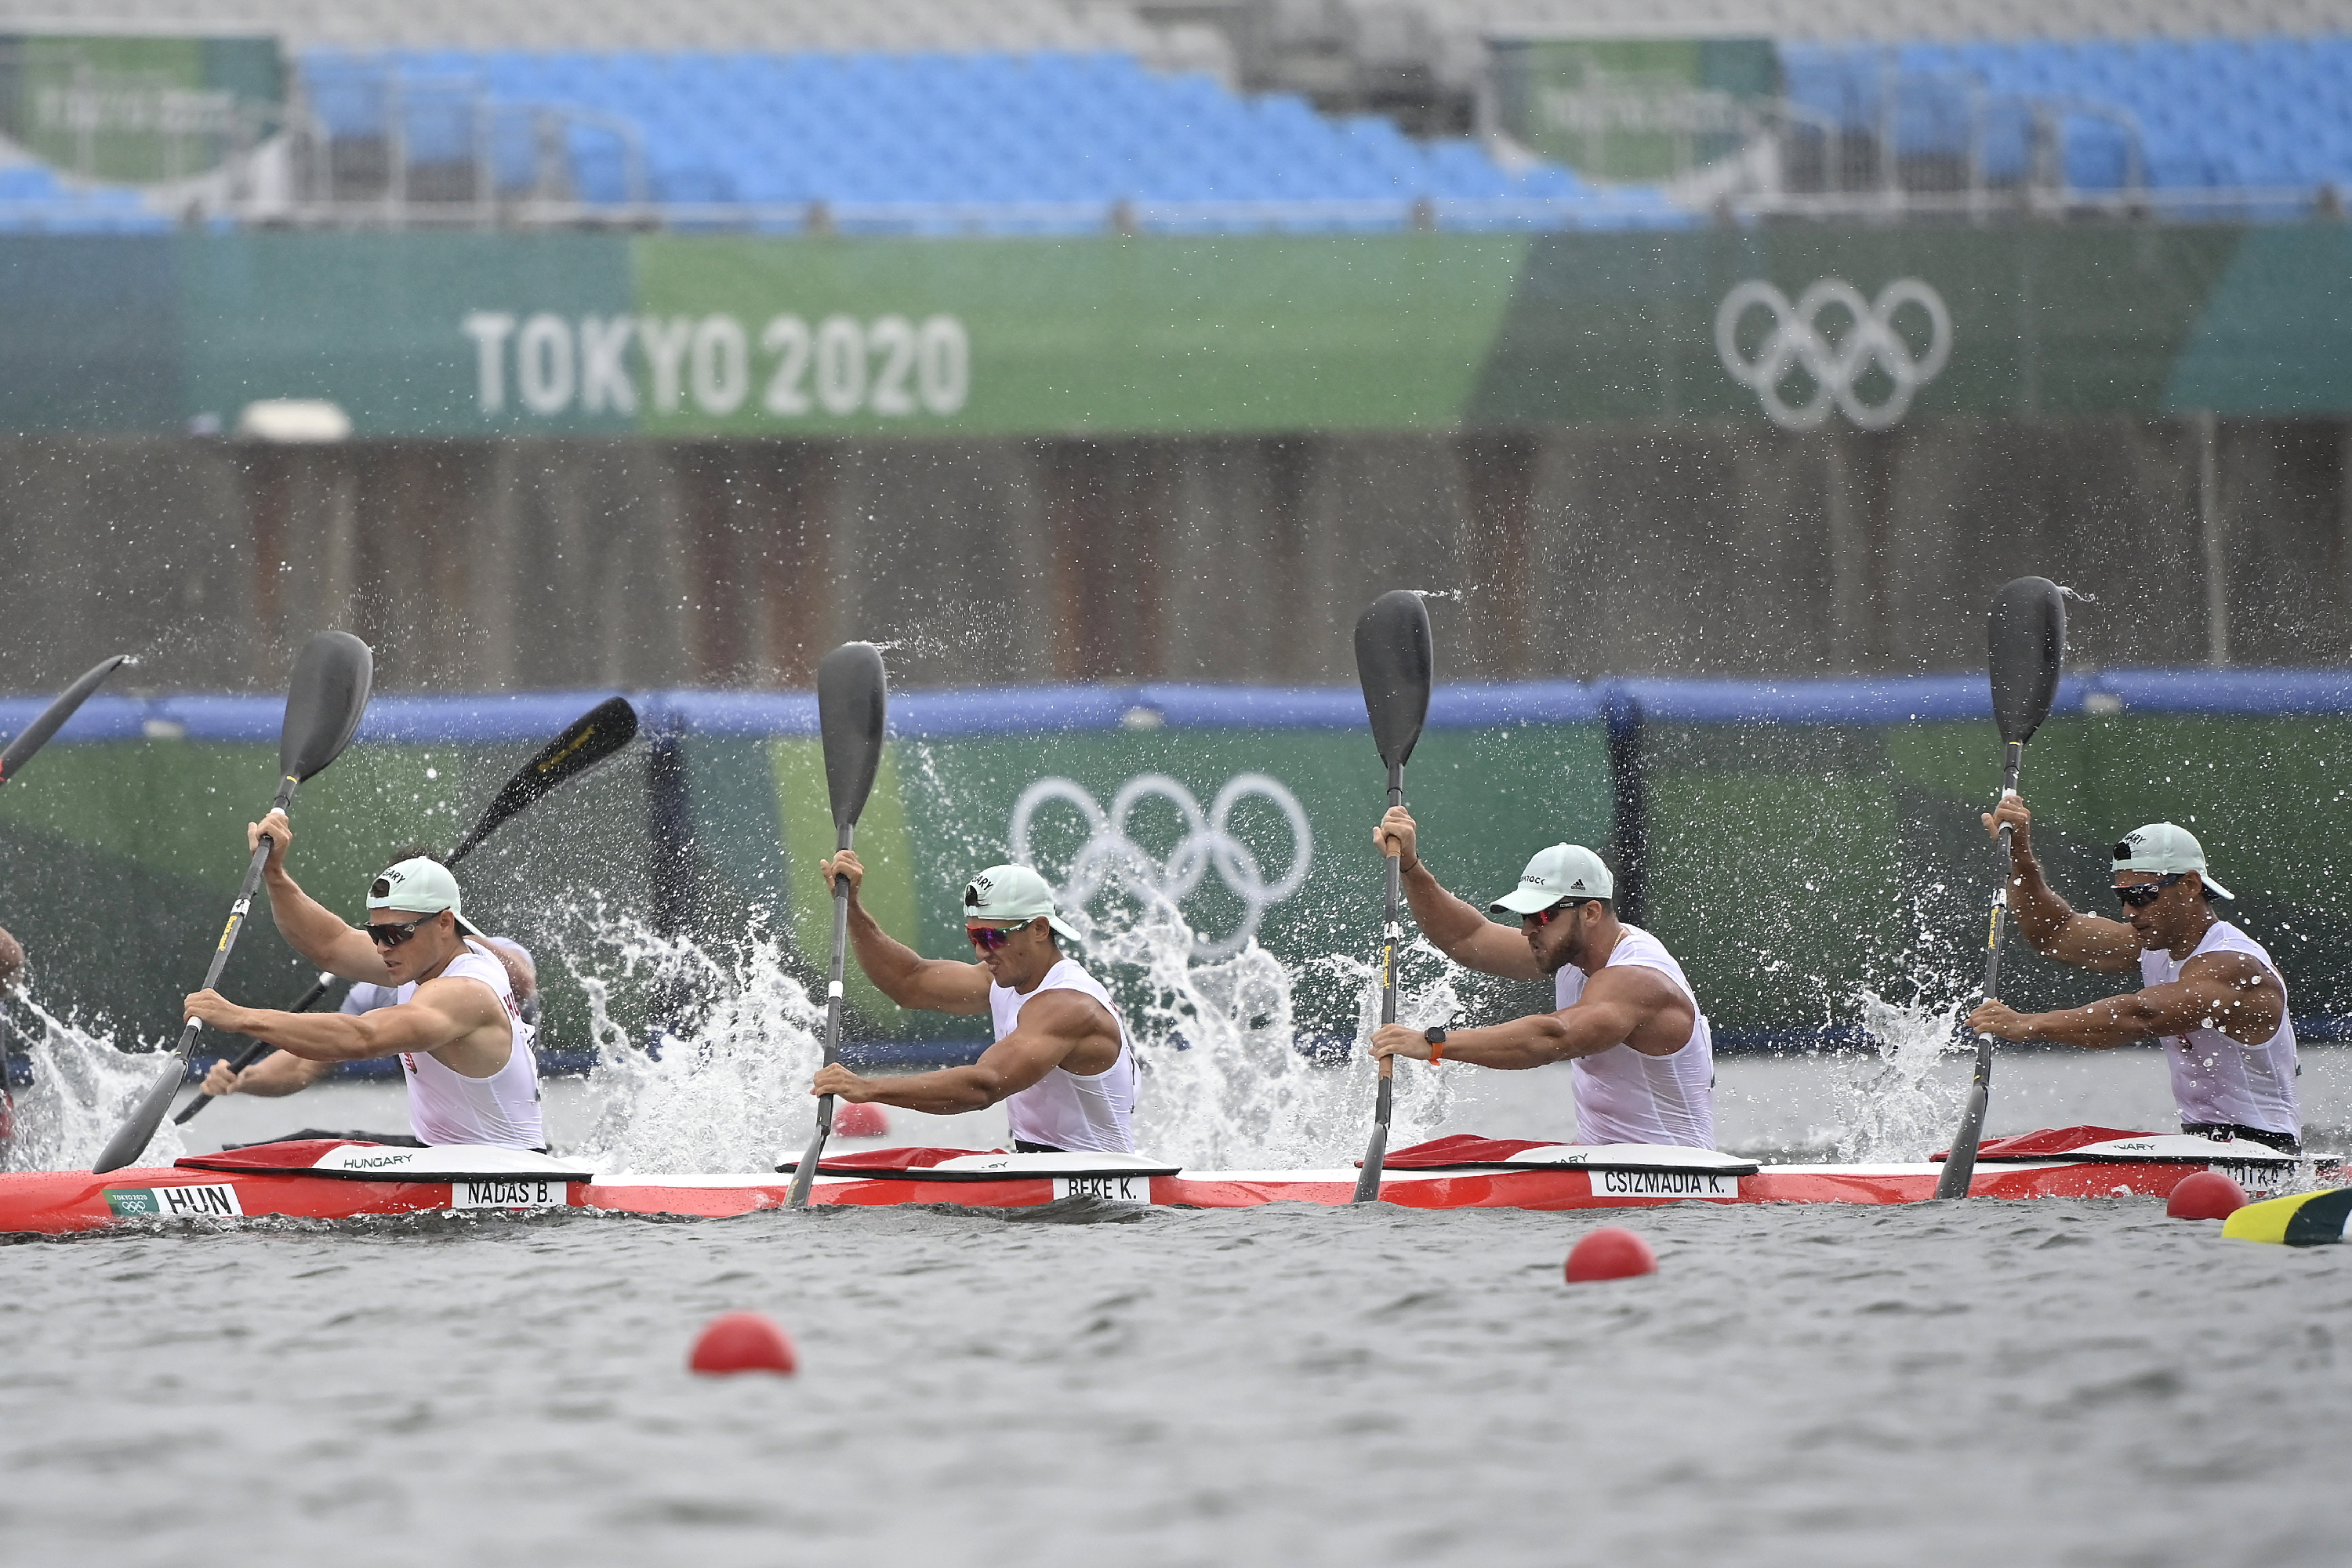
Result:
{"label": "white Olympic rings on upper banner, right of TOKYO 2020", "polygon": [[[1896,331],[1896,313],[1905,306],[1926,317],[1922,355],[1915,355],[1910,341]],[[1740,353],[1738,341],[1750,310],[1771,315],[1771,329],[1752,360]],[[1832,343],[1820,329],[1823,310],[1846,315],[1844,339]],[[1952,313],[1943,308],[1943,296],[1917,277],[1896,277],[1877,299],[1863,299],[1863,292],[1844,277],[1823,277],[1799,294],[1795,306],[1769,282],[1748,280],[1724,294],[1724,303],[1715,310],[1715,355],[1783,430],[1816,430],[1830,418],[1832,404],[1863,430],[1884,430],[1903,418],[1919,388],[1952,357]],[[1856,390],[1870,367],[1882,369],[1893,383],[1884,402],[1863,402]],[[1797,404],[1780,397],[1780,383],[1792,369],[1802,369],[1813,383],[1813,395]]]}

